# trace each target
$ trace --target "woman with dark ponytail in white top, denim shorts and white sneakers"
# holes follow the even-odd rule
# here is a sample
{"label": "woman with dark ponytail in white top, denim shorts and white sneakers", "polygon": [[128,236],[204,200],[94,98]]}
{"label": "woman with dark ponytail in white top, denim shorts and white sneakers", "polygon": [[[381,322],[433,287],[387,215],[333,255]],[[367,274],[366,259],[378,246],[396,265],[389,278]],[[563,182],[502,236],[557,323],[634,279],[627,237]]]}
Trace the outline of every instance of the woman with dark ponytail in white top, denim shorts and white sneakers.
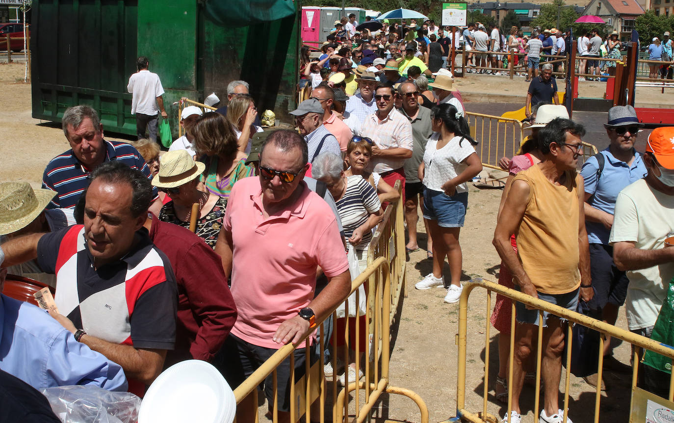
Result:
{"label": "woman with dark ponytail in white top, denim shorts and white sneakers", "polygon": [[468,186],[482,170],[477,144],[470,137],[468,122],[454,105],[443,104],[431,110],[433,135],[426,144],[423,162],[419,165],[419,179],[426,187],[423,217],[429,220],[433,239],[433,272],[418,282],[417,289],[430,289],[444,285],[442,268],[445,257],[450,264],[452,282],[446,303],[458,302],[461,285],[462,254],[459,231],[464,225]]}

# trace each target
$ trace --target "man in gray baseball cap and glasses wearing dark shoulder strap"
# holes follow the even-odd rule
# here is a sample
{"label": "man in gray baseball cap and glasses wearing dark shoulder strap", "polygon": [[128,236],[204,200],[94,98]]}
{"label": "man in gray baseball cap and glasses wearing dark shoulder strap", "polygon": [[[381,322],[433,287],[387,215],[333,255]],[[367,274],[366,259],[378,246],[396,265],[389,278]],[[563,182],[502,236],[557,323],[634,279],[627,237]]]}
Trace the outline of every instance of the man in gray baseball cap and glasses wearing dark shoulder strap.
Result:
{"label": "man in gray baseball cap and glasses wearing dark shoulder strap", "polygon": [[341,154],[337,138],[323,124],[324,111],[320,101],[309,98],[299,103],[297,110],[291,111],[290,115],[295,116],[295,125],[307,142],[309,163],[313,163],[313,159],[324,151]]}

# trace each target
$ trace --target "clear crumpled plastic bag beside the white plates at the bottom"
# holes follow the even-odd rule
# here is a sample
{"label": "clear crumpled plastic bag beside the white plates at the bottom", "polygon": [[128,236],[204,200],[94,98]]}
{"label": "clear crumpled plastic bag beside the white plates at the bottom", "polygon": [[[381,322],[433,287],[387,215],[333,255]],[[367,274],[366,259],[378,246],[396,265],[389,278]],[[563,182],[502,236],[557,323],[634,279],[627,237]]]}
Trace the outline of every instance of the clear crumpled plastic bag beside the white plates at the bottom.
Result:
{"label": "clear crumpled plastic bag beside the white plates at the bottom", "polygon": [[135,423],[140,398],[129,392],[111,392],[73,385],[40,390],[63,423]]}

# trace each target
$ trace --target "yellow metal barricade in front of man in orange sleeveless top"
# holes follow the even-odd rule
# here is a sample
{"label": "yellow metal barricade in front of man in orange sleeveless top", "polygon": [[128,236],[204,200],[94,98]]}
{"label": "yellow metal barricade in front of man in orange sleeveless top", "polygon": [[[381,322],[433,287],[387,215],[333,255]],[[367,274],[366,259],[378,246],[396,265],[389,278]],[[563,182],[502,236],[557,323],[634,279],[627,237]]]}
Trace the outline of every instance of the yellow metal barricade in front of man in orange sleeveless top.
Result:
{"label": "yellow metal barricade in front of man in orange sleeveless top", "polygon": [[[483,378],[479,381],[475,381],[476,383],[472,383],[472,381],[466,380],[466,343],[467,343],[467,331],[468,331],[468,298],[470,297],[470,293],[472,292],[473,289],[475,288],[484,288],[487,290],[487,310],[486,310],[486,327],[484,328],[484,334],[485,334],[485,341],[486,341],[486,347],[485,347],[485,372],[483,375]],[[561,308],[560,306],[557,306],[555,304],[551,304],[549,302],[546,302],[544,300],[540,300],[539,298],[533,298],[530,295],[526,295],[525,293],[521,293],[520,291],[517,291],[516,289],[510,289],[508,287],[504,287],[503,285],[499,285],[497,283],[493,283],[490,281],[485,281],[483,279],[474,279],[466,284],[464,284],[464,289],[463,293],[460,298],[459,302],[459,323],[458,323],[458,334],[456,335],[456,343],[458,345],[458,368],[457,368],[457,389],[456,389],[456,413],[457,413],[457,418],[462,419],[463,421],[468,421],[468,422],[474,422],[474,423],[482,423],[482,422],[496,422],[496,421],[501,421],[500,418],[495,417],[493,414],[489,413],[489,407],[488,407],[488,397],[489,397],[489,340],[490,340],[490,329],[491,329],[491,293],[499,293],[503,295],[506,298],[510,298],[512,300],[511,304],[511,310],[512,310],[512,316],[511,316],[511,322],[510,322],[510,328],[511,328],[511,333],[510,333],[510,357],[509,357],[509,365],[508,365],[508,380],[513,380],[513,368],[512,368],[512,363],[514,360],[514,343],[515,343],[515,327],[516,327],[516,312],[515,312],[515,302],[522,302],[525,305],[532,306],[533,308],[536,308],[539,310],[539,321],[543,321],[543,312],[549,312],[551,316],[557,316],[559,318],[562,318],[564,320],[568,320],[569,325],[567,325],[565,329],[565,344],[566,344],[566,352],[565,352],[565,357],[566,357],[566,363],[567,366],[570,365],[571,363],[571,351],[572,351],[572,342],[573,342],[573,337],[572,337],[572,324],[574,325],[581,325],[583,327],[593,329],[594,331],[598,331],[601,333],[601,337],[599,337],[599,366],[597,368],[597,380],[601,381],[602,380],[602,371],[603,371],[603,351],[604,351],[604,338],[606,336],[620,339],[621,341],[630,343],[634,347],[639,347],[643,349],[648,349],[650,351],[654,351],[657,354],[661,354],[662,356],[665,356],[669,358],[670,360],[674,359],[674,348],[670,347],[669,345],[665,345],[663,343],[659,343],[657,341],[653,341],[652,339],[648,339],[646,337],[643,337],[641,335],[636,335],[630,331],[626,331],[625,329],[621,329],[619,327],[615,327],[613,325],[609,325],[606,322],[602,322],[601,320],[596,320],[594,318],[584,316],[583,314],[579,314],[577,312],[573,312],[570,310],[567,310],[565,308]],[[482,332],[481,332],[482,333]],[[541,354],[542,354],[542,339],[543,339],[543,326],[538,327],[538,341],[537,341],[537,347],[535,351],[535,356],[534,356],[534,350],[532,349],[532,355],[530,359],[535,359],[537,360],[536,362],[536,382],[535,382],[535,387],[534,387],[534,418],[538,419],[539,412],[541,408],[539,408],[539,395],[541,391]],[[638,358],[638,352],[636,349],[633,349],[633,355],[632,355],[632,360],[634,363],[639,362]],[[634,395],[635,391],[637,391],[636,385],[637,385],[637,376],[638,376],[638,371],[639,371],[639,366],[633,366],[632,367],[632,393]],[[563,405],[561,406],[561,410],[564,410],[564,417],[563,417],[563,422],[567,421],[568,418],[568,404],[569,404],[569,387],[570,387],[570,371],[567,368],[567,371],[565,372],[565,378],[564,380],[564,393],[563,393]],[[483,409],[481,412],[476,413],[473,412],[472,410],[466,410],[466,383],[470,383],[471,385],[478,386],[480,384],[483,384]],[[594,423],[599,422],[599,405],[601,401],[601,383],[596,384],[596,394],[595,394],[595,399],[594,399]],[[473,386],[468,387],[469,389],[473,389]],[[506,410],[512,410],[512,384],[508,383],[508,408]],[[650,394],[648,394],[650,395]],[[674,377],[670,378],[670,384],[669,384],[669,401],[672,401],[674,398]],[[632,397],[632,410],[634,410],[634,396]],[[498,406],[500,407],[500,405]],[[578,410],[580,411],[580,410]],[[510,418],[510,416],[509,416]],[[630,419],[632,421],[632,419]]]}

